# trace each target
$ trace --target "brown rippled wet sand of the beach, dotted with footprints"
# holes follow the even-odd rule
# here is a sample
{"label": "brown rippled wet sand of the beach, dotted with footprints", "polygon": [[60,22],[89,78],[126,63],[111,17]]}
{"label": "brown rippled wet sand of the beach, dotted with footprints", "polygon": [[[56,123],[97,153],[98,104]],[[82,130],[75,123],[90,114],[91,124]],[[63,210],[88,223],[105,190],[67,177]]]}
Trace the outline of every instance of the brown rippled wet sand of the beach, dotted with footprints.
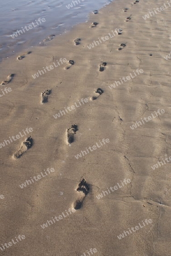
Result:
{"label": "brown rippled wet sand of the beach, dotted with footprints", "polygon": [[171,7],[143,18],[164,3],[116,0],[0,63],[0,255],[171,255]]}

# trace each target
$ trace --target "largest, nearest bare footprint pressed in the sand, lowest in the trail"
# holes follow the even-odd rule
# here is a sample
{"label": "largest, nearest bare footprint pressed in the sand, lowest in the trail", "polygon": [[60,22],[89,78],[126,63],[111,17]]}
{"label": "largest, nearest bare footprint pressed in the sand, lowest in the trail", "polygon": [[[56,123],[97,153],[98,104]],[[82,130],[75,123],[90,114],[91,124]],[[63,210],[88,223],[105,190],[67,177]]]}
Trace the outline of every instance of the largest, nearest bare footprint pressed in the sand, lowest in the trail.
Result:
{"label": "largest, nearest bare footprint pressed in the sand, lowest in the trail", "polygon": [[80,181],[80,183],[78,184],[78,187],[76,189],[76,191],[79,192],[79,197],[76,201],[74,201],[73,203],[73,208],[75,210],[78,210],[82,207],[82,203],[85,199],[85,196],[87,195],[87,193],[89,193],[90,188],[89,188],[89,184],[87,184],[85,179],[82,179]]}

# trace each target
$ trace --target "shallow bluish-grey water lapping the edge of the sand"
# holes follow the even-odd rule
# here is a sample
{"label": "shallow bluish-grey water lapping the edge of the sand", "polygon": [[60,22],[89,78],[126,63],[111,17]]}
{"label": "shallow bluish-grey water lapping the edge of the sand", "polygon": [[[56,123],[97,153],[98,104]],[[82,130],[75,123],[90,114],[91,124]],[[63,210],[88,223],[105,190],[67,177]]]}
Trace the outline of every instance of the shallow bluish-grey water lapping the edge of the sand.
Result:
{"label": "shallow bluish-grey water lapping the edge of the sand", "polygon": [[[77,0],[73,4],[72,0],[6,0],[1,3],[1,59],[16,52],[22,54],[24,49],[31,46],[38,44],[42,46],[42,41],[49,35],[59,35],[75,24],[85,22],[90,11],[98,10],[110,2],[107,0]],[[70,3],[73,7],[68,6]],[[44,18],[45,22],[40,24],[37,21],[36,23],[35,20],[39,18]],[[28,26],[32,22],[35,27],[32,25],[33,28],[29,30]],[[24,29],[25,26],[28,31]],[[18,33],[17,30],[22,30],[23,34]],[[17,32],[16,37],[12,38],[11,34],[15,32]]]}

